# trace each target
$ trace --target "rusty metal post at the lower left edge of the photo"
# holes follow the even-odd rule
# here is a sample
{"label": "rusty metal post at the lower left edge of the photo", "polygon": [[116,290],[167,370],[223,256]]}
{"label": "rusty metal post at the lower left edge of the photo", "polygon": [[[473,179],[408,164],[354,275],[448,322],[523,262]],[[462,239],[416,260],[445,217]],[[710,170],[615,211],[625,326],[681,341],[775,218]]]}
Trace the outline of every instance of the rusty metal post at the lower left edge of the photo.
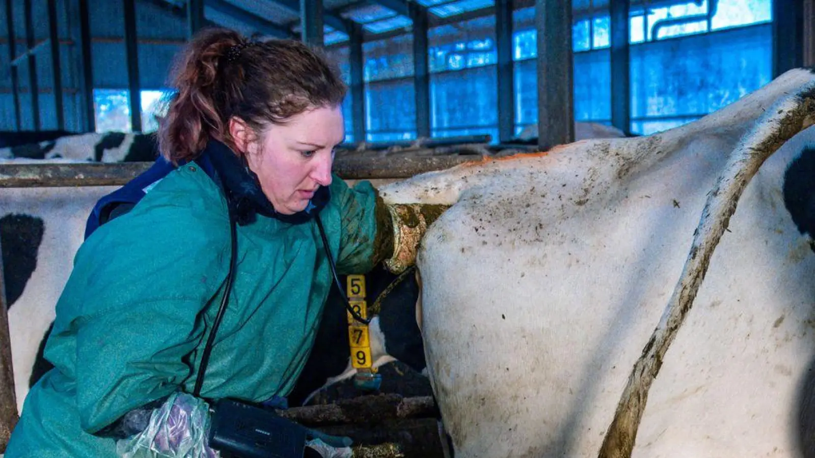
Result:
{"label": "rusty metal post at the lower left edge of the photo", "polygon": [[19,419],[14,393],[14,370],[11,367],[11,338],[8,335],[8,306],[3,275],[0,247],[0,453],[6,451],[11,431]]}

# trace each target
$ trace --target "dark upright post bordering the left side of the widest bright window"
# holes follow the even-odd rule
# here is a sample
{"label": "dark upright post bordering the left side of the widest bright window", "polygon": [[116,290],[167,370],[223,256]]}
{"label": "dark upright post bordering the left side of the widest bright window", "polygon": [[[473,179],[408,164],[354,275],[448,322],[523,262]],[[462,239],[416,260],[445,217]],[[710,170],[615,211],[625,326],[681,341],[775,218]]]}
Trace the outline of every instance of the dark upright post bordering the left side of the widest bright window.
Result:
{"label": "dark upright post bordering the left side of the widest bright window", "polygon": [[631,130],[631,53],[628,46],[629,0],[611,0],[611,124]]}

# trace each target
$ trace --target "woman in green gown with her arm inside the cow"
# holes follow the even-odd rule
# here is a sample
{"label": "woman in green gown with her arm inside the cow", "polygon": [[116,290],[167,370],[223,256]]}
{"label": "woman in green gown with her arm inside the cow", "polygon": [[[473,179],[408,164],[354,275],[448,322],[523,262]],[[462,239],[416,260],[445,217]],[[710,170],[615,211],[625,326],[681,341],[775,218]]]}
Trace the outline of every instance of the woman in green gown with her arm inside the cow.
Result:
{"label": "woman in green gown with her arm inside the cow", "polygon": [[104,432],[122,416],[195,391],[227,284],[230,210],[236,271],[203,399],[262,403],[293,388],[332,278],[315,215],[340,273],[394,252],[412,262],[415,242],[393,246],[394,234],[416,240],[416,227],[399,236],[408,209],[331,174],[346,87],[315,51],[209,30],[174,86],[160,146],[180,166],[77,252],[45,351],[55,368],[25,400],[7,458],[116,456]]}

